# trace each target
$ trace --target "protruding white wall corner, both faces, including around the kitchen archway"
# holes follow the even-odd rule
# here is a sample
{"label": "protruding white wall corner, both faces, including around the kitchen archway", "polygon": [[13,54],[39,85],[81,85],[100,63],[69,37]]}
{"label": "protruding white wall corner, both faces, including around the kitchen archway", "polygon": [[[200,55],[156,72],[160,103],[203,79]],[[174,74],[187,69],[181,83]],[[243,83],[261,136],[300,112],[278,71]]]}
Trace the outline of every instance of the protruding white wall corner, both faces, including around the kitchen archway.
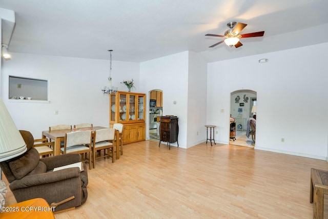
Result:
{"label": "protruding white wall corner, both faces, including around the kitchen archway", "polygon": [[[181,148],[192,147],[206,139],[206,75],[206,63],[198,53],[190,51],[140,65],[140,87],[146,93],[153,89],[162,90],[163,115],[179,117],[178,142]],[[148,122],[146,124],[148,129]]]}

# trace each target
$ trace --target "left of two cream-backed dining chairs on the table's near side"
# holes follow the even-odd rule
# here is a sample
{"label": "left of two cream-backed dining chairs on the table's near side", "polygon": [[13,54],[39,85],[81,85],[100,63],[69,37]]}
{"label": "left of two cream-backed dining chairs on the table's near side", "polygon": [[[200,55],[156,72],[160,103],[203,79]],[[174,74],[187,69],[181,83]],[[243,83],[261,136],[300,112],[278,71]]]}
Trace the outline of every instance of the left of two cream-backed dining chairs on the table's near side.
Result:
{"label": "left of two cream-backed dining chairs on the table's near side", "polygon": [[[60,148],[63,154],[77,153],[84,157],[84,162],[89,160],[89,169],[91,170],[91,144],[93,131],[74,131],[65,134],[64,148]],[[89,159],[85,154],[89,153]]]}

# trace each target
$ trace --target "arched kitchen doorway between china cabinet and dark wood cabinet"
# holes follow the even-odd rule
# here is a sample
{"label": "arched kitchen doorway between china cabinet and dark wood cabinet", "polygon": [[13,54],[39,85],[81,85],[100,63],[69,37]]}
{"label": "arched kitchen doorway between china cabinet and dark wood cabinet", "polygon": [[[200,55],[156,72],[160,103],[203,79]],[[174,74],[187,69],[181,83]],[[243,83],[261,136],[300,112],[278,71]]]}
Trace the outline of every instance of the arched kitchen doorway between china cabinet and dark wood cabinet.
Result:
{"label": "arched kitchen doorway between china cabinet and dark wood cabinet", "polygon": [[163,111],[163,91],[154,89],[149,91],[149,138],[159,140],[159,118]]}

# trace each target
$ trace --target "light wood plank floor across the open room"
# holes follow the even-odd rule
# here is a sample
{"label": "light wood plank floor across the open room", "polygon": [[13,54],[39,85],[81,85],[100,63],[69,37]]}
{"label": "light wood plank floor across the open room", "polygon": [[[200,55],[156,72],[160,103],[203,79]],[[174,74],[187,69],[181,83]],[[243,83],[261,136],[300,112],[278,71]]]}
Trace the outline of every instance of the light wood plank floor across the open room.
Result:
{"label": "light wood plank floor across the open room", "polygon": [[328,163],[233,145],[133,143],[114,164],[97,160],[87,202],[55,217],[312,218],[311,167]]}

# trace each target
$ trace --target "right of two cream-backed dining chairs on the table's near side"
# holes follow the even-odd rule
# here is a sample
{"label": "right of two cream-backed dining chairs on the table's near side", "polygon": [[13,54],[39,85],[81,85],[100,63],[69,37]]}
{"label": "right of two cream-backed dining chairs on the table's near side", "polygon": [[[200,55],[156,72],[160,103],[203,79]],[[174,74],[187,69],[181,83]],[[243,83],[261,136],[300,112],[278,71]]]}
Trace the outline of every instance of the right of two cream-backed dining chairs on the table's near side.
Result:
{"label": "right of two cream-backed dining chairs on the table's near side", "polygon": [[[96,167],[96,159],[110,157],[110,151],[112,151],[112,163],[114,163],[114,138],[115,138],[115,129],[99,129],[94,131],[93,134],[93,144],[92,144],[92,162],[93,168]],[[118,132],[118,131],[117,131]],[[106,153],[107,149],[107,153]],[[104,150],[104,155],[96,156],[96,153]]]}

